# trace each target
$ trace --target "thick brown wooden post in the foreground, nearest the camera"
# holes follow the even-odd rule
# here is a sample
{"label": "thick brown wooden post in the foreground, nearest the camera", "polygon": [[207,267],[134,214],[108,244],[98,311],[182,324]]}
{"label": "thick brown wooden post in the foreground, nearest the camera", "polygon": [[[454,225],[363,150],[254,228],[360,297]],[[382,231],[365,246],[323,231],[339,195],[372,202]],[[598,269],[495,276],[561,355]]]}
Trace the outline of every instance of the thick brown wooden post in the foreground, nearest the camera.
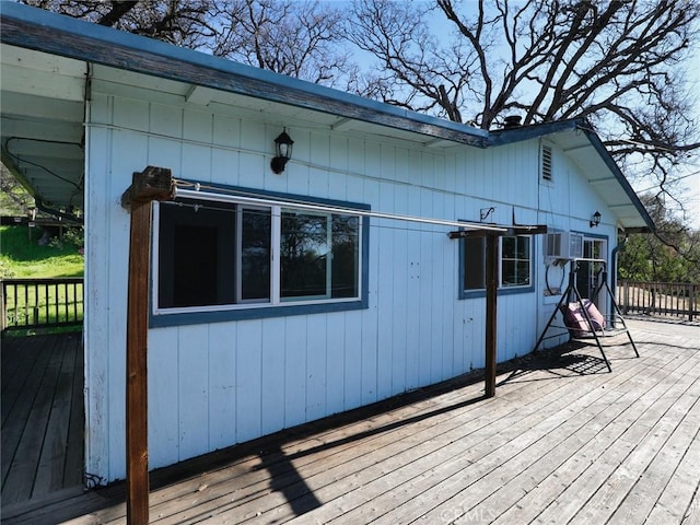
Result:
{"label": "thick brown wooden post in the foreground, nearest the camera", "polygon": [[127,523],[149,523],[148,335],[151,260],[151,201],[172,200],[171,171],[147,167],[135,173],[121,196],[131,211],[127,303]]}

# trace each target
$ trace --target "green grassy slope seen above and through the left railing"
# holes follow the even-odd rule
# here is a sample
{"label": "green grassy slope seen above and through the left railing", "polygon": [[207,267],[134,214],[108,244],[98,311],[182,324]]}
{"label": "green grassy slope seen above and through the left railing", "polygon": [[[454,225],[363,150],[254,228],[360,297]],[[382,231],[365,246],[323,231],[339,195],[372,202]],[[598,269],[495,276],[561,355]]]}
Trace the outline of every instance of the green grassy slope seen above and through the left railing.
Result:
{"label": "green grassy slope seen above and through the left railing", "polygon": [[[0,277],[3,279],[57,279],[83,277],[84,260],[71,242],[70,235],[62,242],[52,241],[39,246],[39,229],[26,226],[0,226]],[[7,287],[8,326],[63,323],[82,319],[83,298],[81,284]],[[78,327],[51,328],[50,331],[80,329]],[[43,328],[42,331],[46,330]],[[9,330],[8,335],[28,335],[34,329]]]}

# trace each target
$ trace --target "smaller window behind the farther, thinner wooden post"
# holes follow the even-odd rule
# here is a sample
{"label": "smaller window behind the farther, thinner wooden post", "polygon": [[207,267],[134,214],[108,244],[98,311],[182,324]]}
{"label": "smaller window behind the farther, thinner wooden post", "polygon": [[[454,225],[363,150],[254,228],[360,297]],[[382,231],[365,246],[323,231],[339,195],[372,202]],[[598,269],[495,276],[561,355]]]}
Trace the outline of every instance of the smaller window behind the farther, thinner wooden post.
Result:
{"label": "smaller window behind the farther, thinner wooden post", "polygon": [[[532,291],[532,238],[529,235],[500,237],[500,290]],[[486,290],[486,240],[465,237],[462,243],[462,299],[481,295]]]}

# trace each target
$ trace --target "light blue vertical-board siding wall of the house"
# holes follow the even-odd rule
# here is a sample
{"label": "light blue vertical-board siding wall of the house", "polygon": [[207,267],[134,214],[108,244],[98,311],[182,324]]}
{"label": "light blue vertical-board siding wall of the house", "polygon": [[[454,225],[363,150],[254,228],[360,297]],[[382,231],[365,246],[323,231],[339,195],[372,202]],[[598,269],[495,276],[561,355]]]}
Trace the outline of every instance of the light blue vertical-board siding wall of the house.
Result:
{"label": "light blue vertical-board siding wall of the house", "polygon": [[[97,86],[90,104],[86,470],[104,481],[126,474],[129,215],[119,198],[132,172],[156,165],[175,177],[448,220],[478,220],[481,208],[495,207],[491,220],[510,223],[515,207],[521,223],[584,230],[596,208],[611,217],[584,202],[597,199],[573,182],[561,152],[556,184],[538,185],[538,141],[446,151],[288,122],[294,159],[275,175],[269,160],[279,126],[152,98]],[[151,329],[150,466],[482,368],[483,300],[457,299],[458,244],[447,231],[373,219],[368,310]],[[499,361],[529,352],[546,322],[539,241],[535,247],[536,291],[499,298]]]}

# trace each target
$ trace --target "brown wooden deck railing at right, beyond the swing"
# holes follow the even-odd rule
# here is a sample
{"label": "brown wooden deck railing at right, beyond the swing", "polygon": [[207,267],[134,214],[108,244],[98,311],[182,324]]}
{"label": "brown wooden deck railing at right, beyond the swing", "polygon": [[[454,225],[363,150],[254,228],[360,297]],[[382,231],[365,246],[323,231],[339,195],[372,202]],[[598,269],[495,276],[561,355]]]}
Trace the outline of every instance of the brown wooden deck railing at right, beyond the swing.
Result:
{"label": "brown wooden deck railing at right, beyond the swing", "polygon": [[620,280],[617,302],[622,314],[648,314],[700,319],[700,284]]}

